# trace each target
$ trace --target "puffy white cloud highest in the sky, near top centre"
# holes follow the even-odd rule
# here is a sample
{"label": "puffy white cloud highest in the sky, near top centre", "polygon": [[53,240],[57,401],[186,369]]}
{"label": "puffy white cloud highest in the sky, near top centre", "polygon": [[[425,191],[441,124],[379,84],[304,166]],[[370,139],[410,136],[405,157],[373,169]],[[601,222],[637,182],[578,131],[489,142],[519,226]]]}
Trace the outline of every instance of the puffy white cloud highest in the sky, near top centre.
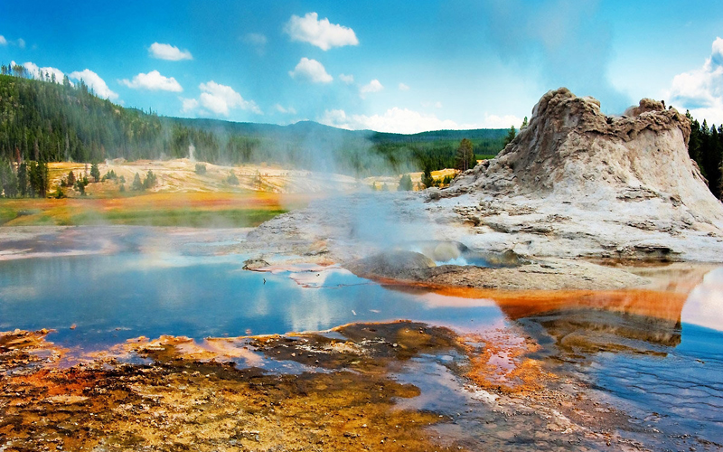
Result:
{"label": "puffy white cloud highest in the sky, near top centre", "polygon": [[359,40],[351,28],[330,24],[329,19],[319,20],[319,14],[307,13],[304,17],[292,15],[284,27],[292,41],[309,42],[323,51],[332,47],[357,45]]}

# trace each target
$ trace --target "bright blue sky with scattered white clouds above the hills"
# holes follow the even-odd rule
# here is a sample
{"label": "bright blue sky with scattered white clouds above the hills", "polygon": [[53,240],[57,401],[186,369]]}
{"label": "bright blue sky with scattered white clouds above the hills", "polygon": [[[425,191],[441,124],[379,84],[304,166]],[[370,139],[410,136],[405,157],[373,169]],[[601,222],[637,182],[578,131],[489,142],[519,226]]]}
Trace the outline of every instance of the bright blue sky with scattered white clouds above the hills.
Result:
{"label": "bright blue sky with scattered white clouds above the hills", "polygon": [[549,89],[723,123],[723,5],[0,0],[0,62],[183,118],[519,127]]}

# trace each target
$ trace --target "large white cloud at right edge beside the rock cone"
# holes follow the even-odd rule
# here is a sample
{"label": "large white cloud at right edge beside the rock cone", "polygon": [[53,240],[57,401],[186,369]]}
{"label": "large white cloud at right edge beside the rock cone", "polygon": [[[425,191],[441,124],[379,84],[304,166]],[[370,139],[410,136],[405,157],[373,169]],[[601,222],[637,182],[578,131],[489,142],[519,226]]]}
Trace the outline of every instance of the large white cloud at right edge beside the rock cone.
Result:
{"label": "large white cloud at right edge beside the rock cone", "polygon": [[701,68],[673,77],[666,97],[672,105],[690,109],[700,121],[723,123],[723,39],[716,38]]}

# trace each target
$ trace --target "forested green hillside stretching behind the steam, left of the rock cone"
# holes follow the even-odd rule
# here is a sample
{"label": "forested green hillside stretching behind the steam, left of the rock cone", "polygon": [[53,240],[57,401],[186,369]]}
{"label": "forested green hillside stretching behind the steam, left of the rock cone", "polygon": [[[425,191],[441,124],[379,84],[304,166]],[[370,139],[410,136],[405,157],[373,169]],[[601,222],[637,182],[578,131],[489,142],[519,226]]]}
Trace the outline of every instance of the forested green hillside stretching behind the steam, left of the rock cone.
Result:
{"label": "forested green hillside stretching behind the steam, left of the rock cone", "polygon": [[[194,157],[213,164],[262,162],[353,175],[454,165],[463,137],[476,154],[502,149],[506,130],[415,135],[351,131],[302,121],[289,126],[161,117],[71,85],[0,75],[0,160],[92,162]],[[190,154],[193,155],[190,155]]]}

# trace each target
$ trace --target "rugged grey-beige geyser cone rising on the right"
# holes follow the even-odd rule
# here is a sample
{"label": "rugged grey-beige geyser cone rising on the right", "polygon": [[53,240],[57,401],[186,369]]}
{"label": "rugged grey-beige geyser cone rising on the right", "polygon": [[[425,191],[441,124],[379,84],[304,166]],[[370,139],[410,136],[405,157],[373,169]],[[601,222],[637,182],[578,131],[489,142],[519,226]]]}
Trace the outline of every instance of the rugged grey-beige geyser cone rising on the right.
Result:
{"label": "rugged grey-beige geyser cone rising on the right", "polygon": [[545,94],[497,158],[455,179],[453,190],[590,201],[657,199],[687,208],[695,221],[723,224],[723,204],[687,150],[690,121],[643,99],[622,117],[560,88]]}

